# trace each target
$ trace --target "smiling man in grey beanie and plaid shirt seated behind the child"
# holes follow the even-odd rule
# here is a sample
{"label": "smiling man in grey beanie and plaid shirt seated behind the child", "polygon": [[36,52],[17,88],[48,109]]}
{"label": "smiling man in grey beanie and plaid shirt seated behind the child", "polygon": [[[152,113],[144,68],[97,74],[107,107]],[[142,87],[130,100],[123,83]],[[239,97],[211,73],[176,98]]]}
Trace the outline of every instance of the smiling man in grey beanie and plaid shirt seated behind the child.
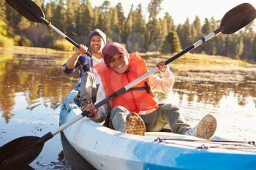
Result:
{"label": "smiling man in grey beanie and plaid shirt seated behind the child", "polygon": [[[96,100],[97,86],[99,86],[100,79],[94,74],[93,66],[103,61],[102,48],[105,44],[106,35],[99,29],[94,29],[89,34],[89,50],[85,45],[80,45],[79,49],[63,65],[63,70],[67,74],[79,72],[79,80],[75,85],[75,90],[80,91],[78,95],[80,105]],[[86,55],[87,51],[93,55],[93,58]]]}

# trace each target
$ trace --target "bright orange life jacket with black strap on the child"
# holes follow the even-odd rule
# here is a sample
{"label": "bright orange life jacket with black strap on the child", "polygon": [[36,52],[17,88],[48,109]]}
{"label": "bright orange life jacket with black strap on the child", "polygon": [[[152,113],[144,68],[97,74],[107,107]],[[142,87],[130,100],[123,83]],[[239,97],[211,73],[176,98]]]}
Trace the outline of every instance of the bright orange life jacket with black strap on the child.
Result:
{"label": "bright orange life jacket with black strap on the child", "polygon": [[[97,70],[102,80],[102,85],[107,96],[115,93],[117,90],[123,88],[125,85],[128,85],[129,82],[132,82],[148,71],[145,61],[138,56],[138,53],[130,53],[129,58],[129,72],[123,74],[117,74],[110,69],[110,67],[106,66],[104,62],[98,63],[94,66],[94,69]],[[147,82],[148,86],[150,87],[147,77],[145,80],[139,82],[132,88],[143,87],[145,86],[145,82]],[[157,109],[158,107],[157,102],[154,101],[154,96],[151,91],[147,93],[146,90],[133,90],[116,96],[110,101],[111,108],[118,105],[125,107],[129,110],[129,112],[137,113],[140,111]]]}

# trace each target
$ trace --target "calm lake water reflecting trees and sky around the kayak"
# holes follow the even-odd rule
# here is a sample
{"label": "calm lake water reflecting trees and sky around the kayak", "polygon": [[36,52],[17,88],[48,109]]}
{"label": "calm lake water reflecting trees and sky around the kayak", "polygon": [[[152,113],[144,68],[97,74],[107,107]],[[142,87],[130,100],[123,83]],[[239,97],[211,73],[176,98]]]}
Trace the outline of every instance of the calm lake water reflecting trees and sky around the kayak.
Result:
{"label": "calm lake water reflecting trees and sky around the kayak", "polygon": [[[67,56],[59,55],[0,54],[0,146],[20,136],[42,136],[59,127],[61,101],[78,77],[62,72],[61,64],[66,60]],[[191,125],[211,113],[217,117],[217,136],[256,140],[255,68],[178,72],[176,67],[173,92],[156,93],[159,101],[177,104]],[[64,152],[61,141],[64,149],[68,148]],[[67,150],[72,148],[57,134],[26,169],[92,169],[74,152],[72,162]]]}

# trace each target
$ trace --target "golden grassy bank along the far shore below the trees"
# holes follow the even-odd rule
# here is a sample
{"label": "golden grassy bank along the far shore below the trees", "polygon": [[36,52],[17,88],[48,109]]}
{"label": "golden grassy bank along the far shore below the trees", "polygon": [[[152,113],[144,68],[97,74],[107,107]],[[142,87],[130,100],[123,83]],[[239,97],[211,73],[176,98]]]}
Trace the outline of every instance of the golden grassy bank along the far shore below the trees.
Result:
{"label": "golden grassy bank along the far shore below the trees", "polygon": [[[60,50],[53,50],[49,48],[40,47],[0,47],[0,53],[14,53],[14,54],[28,54],[28,55],[55,55],[64,58],[69,58],[71,52],[64,52]],[[165,61],[173,55],[161,55],[159,53],[139,53],[139,55],[146,59],[146,63],[151,68],[155,66],[156,62]],[[225,67],[256,67],[255,64],[247,63],[241,60],[234,60],[219,55],[193,54],[187,53],[180,58],[170,63],[173,69],[176,70],[198,70],[198,69],[223,69]]]}

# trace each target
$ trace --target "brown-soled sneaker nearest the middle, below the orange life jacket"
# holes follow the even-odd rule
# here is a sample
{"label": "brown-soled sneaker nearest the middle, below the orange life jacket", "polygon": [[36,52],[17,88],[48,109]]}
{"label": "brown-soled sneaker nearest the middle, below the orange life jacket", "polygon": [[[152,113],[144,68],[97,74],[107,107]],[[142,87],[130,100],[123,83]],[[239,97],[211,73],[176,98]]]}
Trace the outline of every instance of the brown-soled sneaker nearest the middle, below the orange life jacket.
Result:
{"label": "brown-soled sneaker nearest the middle, below the orange life jacket", "polygon": [[129,113],[129,115],[127,115],[126,127],[127,134],[145,136],[145,124],[141,117],[136,113]]}

